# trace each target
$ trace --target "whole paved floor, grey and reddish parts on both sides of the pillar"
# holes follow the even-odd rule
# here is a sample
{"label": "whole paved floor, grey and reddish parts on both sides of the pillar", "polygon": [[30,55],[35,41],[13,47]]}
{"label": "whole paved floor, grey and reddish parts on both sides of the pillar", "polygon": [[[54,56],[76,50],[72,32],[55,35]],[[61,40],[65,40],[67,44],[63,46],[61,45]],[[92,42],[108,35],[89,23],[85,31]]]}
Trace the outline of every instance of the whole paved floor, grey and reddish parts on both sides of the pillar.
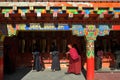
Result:
{"label": "whole paved floor, grey and reddish parts on both sides of the pillar", "polygon": [[[13,74],[5,75],[4,80],[85,80],[85,70],[82,69],[81,75],[65,75],[66,70],[67,68],[62,68],[61,71],[52,72],[48,68],[44,71],[37,72],[31,70],[31,68],[20,68]],[[94,80],[120,80],[120,70],[102,70],[95,71]]]}

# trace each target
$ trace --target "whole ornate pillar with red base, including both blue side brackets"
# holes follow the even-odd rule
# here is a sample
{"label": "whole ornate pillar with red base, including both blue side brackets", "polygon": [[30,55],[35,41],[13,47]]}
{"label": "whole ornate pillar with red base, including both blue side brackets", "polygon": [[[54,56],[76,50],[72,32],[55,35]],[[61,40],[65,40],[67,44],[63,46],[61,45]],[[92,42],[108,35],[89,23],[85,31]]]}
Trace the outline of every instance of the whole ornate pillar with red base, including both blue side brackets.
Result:
{"label": "whole ornate pillar with red base, including both blue side brackets", "polygon": [[87,56],[87,80],[94,80],[94,41],[97,36],[109,35],[110,29],[108,25],[72,25],[72,33],[77,36],[84,36],[86,38],[86,56]]}

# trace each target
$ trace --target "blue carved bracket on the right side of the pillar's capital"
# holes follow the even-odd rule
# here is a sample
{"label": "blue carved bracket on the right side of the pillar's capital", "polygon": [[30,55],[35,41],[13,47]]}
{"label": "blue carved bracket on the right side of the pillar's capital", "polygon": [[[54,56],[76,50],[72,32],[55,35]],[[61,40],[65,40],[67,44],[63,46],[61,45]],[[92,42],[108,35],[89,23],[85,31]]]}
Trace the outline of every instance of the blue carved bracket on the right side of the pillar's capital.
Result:
{"label": "blue carved bracket on the right side of the pillar's capital", "polygon": [[99,25],[99,36],[109,35],[110,28],[108,25]]}

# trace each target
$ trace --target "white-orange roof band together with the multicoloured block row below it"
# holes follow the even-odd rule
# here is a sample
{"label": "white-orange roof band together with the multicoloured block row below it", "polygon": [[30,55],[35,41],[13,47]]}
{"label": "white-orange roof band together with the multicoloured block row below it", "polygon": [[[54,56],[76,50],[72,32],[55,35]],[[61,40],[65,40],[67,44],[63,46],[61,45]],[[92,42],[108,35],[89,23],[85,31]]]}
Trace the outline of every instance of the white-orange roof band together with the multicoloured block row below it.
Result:
{"label": "white-orange roof band together with the multicoloured block row below it", "polygon": [[[2,2],[4,4],[4,6],[6,5],[4,2]],[[23,3],[21,5],[21,3]],[[28,5],[26,5],[26,4]],[[113,4],[113,5],[117,5],[118,6],[114,6],[114,7],[111,7],[113,5],[109,4],[109,6],[107,6],[107,8],[100,8],[100,7],[96,7],[94,6],[93,4],[94,3],[81,3],[81,2],[74,2],[74,3],[71,3],[71,2],[61,2],[60,3],[54,3],[54,2],[41,2],[41,3],[27,3],[27,2],[20,2],[20,3],[16,3],[13,5],[13,3],[8,3],[6,5],[6,7],[3,7],[1,5],[3,5],[0,3],[0,7],[2,7],[2,13],[3,14],[6,14],[6,13],[13,13],[14,14],[14,9],[18,9],[18,13],[21,13],[21,14],[25,14],[25,13],[29,13],[30,10],[33,10],[35,11],[36,13],[47,13],[47,10],[50,10],[50,13],[54,13],[54,12],[57,12],[57,13],[63,13],[63,10],[66,11],[66,13],[73,13],[73,14],[79,14],[79,11],[81,11],[81,14],[92,14],[94,13],[94,11],[96,11],[97,14],[120,14],[120,8],[116,8],[116,7],[120,7],[120,3],[116,3],[116,4]],[[9,5],[10,4],[10,5]],[[20,4],[20,5],[18,5]],[[36,5],[35,5],[36,4]],[[39,4],[39,5],[38,5]],[[96,3],[98,5],[102,4],[102,3]],[[95,5],[96,5],[95,4]],[[107,4],[107,3],[105,3]],[[25,6],[23,6],[25,5]],[[36,6],[40,6],[40,7],[36,7]],[[14,8],[15,6],[15,8]],[[44,8],[43,8],[43,7]],[[9,7],[9,8],[7,8]],[[53,7],[53,8],[51,8]],[[57,7],[61,7],[61,8],[57,8]],[[73,9],[72,8],[68,8],[68,7],[74,7]],[[87,8],[85,8],[87,7]],[[89,7],[89,8],[88,8]],[[101,6],[101,7],[104,7],[104,6]]]}

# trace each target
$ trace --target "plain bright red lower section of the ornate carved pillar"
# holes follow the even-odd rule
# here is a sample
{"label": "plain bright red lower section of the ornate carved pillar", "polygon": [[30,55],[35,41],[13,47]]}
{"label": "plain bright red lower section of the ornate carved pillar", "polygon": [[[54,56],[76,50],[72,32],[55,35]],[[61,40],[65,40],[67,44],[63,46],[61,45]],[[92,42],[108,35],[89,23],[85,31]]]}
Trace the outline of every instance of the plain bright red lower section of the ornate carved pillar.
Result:
{"label": "plain bright red lower section of the ornate carved pillar", "polygon": [[94,57],[87,58],[87,80],[94,80]]}

